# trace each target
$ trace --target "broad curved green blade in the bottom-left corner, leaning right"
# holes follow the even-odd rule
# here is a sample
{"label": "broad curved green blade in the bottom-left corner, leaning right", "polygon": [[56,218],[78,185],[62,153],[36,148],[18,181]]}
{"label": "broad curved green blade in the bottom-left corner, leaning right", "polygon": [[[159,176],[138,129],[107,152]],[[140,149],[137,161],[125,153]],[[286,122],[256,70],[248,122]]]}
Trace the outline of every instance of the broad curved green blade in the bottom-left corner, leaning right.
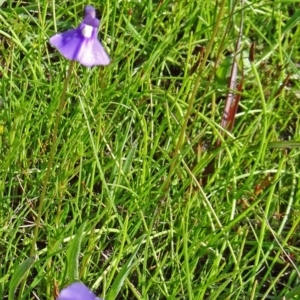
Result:
{"label": "broad curved green blade in the bottom-left corner, leaning right", "polygon": [[35,257],[28,257],[20,265],[17,266],[9,283],[8,300],[15,299],[15,292],[22,279],[26,276],[32,265],[35,263]]}

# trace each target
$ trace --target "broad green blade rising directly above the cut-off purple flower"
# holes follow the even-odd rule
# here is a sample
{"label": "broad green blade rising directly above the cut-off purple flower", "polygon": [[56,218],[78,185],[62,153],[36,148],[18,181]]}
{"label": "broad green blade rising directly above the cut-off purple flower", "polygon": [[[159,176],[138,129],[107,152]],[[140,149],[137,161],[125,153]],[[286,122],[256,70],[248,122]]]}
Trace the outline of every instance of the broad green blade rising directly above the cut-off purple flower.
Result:
{"label": "broad green blade rising directly above the cut-off purple flower", "polygon": [[68,260],[67,274],[69,276],[70,282],[74,282],[75,280],[79,279],[79,275],[78,275],[79,254],[80,254],[81,241],[84,234],[85,225],[86,222],[82,223],[82,225],[79,227],[67,251],[67,260]]}

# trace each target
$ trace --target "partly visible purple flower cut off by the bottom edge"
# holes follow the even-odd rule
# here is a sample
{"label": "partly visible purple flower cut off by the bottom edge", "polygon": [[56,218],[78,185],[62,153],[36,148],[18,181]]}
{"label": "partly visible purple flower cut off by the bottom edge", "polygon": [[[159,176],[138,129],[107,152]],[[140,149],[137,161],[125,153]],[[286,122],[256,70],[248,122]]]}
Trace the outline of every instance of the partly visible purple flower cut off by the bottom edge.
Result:
{"label": "partly visible purple flower cut off by the bottom edge", "polygon": [[83,283],[74,282],[63,289],[56,300],[102,300],[97,298]]}

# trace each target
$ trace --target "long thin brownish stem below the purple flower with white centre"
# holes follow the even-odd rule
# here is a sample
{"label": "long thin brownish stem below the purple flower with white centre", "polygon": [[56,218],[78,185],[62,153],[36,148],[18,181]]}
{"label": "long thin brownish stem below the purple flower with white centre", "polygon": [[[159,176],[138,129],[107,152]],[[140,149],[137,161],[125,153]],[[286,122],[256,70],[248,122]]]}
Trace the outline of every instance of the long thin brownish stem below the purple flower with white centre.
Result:
{"label": "long thin brownish stem below the purple flower with white centre", "polygon": [[65,106],[66,93],[67,93],[68,84],[69,84],[69,81],[70,81],[70,78],[71,78],[73,65],[74,65],[74,62],[71,61],[69,69],[68,69],[67,76],[65,78],[63,91],[62,91],[60,101],[59,101],[59,107],[58,107],[57,114],[56,114],[56,117],[55,117],[52,144],[51,144],[50,155],[49,155],[49,159],[48,159],[46,175],[45,175],[45,179],[44,179],[44,182],[43,182],[43,189],[42,189],[42,193],[41,193],[41,196],[40,196],[40,202],[39,202],[39,207],[38,207],[38,214],[37,214],[37,218],[36,218],[36,224],[35,224],[35,228],[34,228],[34,234],[33,234],[33,240],[32,240],[32,245],[31,245],[30,256],[35,255],[35,244],[36,244],[37,239],[38,239],[39,228],[40,228],[40,225],[41,225],[41,218],[42,218],[42,214],[43,214],[43,206],[44,206],[44,202],[45,202],[47,185],[48,185],[48,181],[49,181],[49,178],[50,178],[50,173],[51,173],[51,168],[52,168],[52,164],[53,164],[54,155],[55,155],[55,152],[56,152],[56,149],[57,149],[56,141],[57,141],[58,125],[59,125],[60,117],[61,117],[61,114],[62,114],[62,110]]}

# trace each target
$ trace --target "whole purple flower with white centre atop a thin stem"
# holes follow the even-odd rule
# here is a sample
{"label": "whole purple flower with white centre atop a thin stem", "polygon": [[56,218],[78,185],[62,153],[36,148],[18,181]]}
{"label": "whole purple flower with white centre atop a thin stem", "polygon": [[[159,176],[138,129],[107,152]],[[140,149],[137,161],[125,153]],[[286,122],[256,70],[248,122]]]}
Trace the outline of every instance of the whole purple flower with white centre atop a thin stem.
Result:
{"label": "whole purple flower with white centre atop a thin stem", "polygon": [[50,44],[67,59],[77,60],[86,67],[108,65],[109,56],[97,38],[100,22],[92,6],[85,7],[85,17],[76,29],[58,33]]}

